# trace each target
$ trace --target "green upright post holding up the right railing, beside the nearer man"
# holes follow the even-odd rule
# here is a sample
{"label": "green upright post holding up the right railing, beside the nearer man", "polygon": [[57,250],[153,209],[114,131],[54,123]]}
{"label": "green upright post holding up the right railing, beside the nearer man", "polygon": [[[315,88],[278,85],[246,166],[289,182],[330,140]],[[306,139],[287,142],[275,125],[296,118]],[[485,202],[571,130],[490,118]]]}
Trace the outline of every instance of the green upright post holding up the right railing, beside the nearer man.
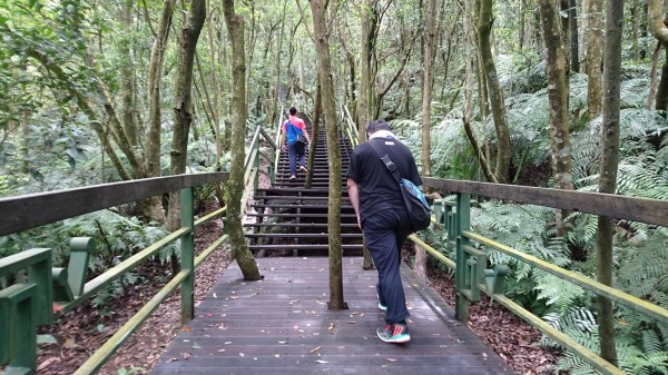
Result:
{"label": "green upright post holding up the right railing, beside the nearer man", "polygon": [[458,193],[456,195],[456,215],[454,221],[454,238],[456,239],[455,263],[456,269],[454,273],[455,288],[455,312],[454,316],[458,320],[469,320],[469,297],[464,294],[466,286],[466,270],[469,254],[464,247],[469,245],[469,239],[462,236],[462,231],[468,231],[471,226],[471,195]]}

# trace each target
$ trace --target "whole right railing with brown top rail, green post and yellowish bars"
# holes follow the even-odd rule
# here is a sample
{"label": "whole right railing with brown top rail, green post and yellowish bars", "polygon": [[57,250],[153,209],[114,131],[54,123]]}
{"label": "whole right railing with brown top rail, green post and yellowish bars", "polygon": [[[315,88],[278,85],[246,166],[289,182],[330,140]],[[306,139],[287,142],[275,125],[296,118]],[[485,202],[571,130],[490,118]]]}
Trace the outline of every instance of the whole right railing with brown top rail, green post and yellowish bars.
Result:
{"label": "whole right railing with brown top rail, green post and yellowish bars", "polygon": [[534,188],[501,184],[456,181],[436,178],[423,178],[428,188],[448,191],[456,195],[456,201],[436,201],[434,216],[438,224],[444,226],[448,243],[443,244],[448,250],[455,250],[452,260],[438,249],[424,243],[418,235],[410,236],[418,246],[444,263],[455,275],[455,316],[462,322],[469,318],[471,302],[479,302],[481,293],[487,294],[497,303],[507,307],[540,332],[578,355],[602,374],[625,374],[620,368],[606,362],[589,348],[578,344],[574,339],[543,322],[540,317],[522,308],[512,299],[503,295],[504,277],[508,266],[498,265],[488,268],[487,251],[493,249],[524,261],[538,269],[550,273],[563,280],[573,283],[596,295],[609,298],[617,304],[632,308],[655,318],[657,322],[668,324],[668,309],[654,305],[619,289],[602,285],[591,278],[557,267],[531,255],[527,255],[510,246],[495,243],[481,236],[470,228],[471,197],[495,198],[519,203],[553,207],[571,211],[629,219],[658,226],[668,226],[668,201],[623,197],[610,194],[567,191],[558,189]]}

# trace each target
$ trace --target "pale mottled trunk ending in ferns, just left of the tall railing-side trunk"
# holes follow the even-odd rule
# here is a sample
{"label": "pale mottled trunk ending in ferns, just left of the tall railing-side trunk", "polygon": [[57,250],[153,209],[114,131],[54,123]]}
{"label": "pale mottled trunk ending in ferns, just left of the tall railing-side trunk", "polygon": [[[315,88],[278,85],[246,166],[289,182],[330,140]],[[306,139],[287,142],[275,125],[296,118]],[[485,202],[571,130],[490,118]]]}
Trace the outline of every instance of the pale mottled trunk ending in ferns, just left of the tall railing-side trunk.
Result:
{"label": "pale mottled trunk ending in ferns, just left of the tall railing-side trunk", "polygon": [[603,50],[603,0],[587,0],[587,108],[589,120],[601,114],[603,87],[601,81]]}

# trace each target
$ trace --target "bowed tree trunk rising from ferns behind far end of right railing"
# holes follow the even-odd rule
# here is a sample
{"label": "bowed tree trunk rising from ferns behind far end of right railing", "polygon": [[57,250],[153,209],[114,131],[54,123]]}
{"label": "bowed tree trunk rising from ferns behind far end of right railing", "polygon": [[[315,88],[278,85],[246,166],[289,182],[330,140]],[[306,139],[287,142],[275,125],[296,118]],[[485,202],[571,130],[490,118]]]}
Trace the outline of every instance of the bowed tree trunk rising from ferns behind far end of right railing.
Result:
{"label": "bowed tree trunk rising from ferns behind far end of right railing", "polygon": [[478,20],[478,34],[480,43],[480,56],[482,66],[487,77],[487,87],[492,107],[492,116],[494,118],[494,128],[497,129],[497,166],[494,168],[494,178],[499,182],[510,182],[510,132],[505,122],[505,107],[503,102],[503,92],[501,83],[497,75],[492,47],[490,43],[490,34],[492,31],[492,0],[480,1],[480,13]]}

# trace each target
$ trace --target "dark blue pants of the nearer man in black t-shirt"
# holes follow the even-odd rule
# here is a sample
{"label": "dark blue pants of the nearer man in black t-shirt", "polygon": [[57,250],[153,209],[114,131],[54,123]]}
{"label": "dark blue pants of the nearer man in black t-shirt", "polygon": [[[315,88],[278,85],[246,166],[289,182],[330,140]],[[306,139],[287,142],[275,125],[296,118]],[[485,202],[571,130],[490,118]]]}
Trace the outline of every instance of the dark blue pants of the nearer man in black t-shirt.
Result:
{"label": "dark blue pants of the nearer man in black t-shirt", "polygon": [[403,208],[385,209],[364,219],[366,247],[379,272],[376,290],[381,304],[387,306],[385,323],[400,323],[409,317],[401,282],[401,248],[410,234],[409,215]]}

